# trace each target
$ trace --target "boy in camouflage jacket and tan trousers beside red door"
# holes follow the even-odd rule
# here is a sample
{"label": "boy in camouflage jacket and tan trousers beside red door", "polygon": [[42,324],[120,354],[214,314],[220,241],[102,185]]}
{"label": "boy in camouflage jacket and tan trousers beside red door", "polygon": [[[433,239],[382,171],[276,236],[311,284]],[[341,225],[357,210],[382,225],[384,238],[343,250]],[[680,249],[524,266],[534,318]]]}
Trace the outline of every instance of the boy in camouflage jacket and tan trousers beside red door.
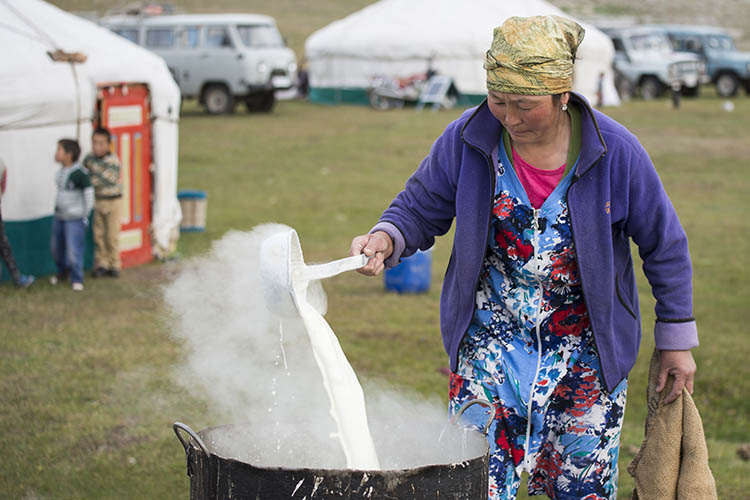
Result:
{"label": "boy in camouflage jacket and tan trousers beside red door", "polygon": [[91,175],[94,202],[94,271],[91,275],[120,276],[120,211],[122,185],[120,160],[110,152],[112,138],[106,128],[97,128],[91,136],[92,152],[83,159]]}

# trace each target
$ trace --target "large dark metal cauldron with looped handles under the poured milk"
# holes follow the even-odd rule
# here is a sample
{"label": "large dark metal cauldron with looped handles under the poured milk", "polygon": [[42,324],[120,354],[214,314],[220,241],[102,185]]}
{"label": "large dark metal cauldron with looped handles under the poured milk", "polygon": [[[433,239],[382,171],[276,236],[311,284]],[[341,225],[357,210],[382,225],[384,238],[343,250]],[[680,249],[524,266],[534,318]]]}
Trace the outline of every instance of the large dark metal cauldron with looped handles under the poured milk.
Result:
{"label": "large dark metal cauldron with looped handles under the poured milk", "polygon": [[[483,429],[486,434],[495,410],[485,401],[469,401],[456,413],[454,421],[473,404],[489,408],[490,415]],[[366,471],[260,467],[222,457],[205,444],[212,442],[212,433],[231,431],[233,427],[237,426],[210,427],[196,433],[183,423],[174,423],[175,434],[187,455],[191,500],[487,498],[489,445],[480,432],[468,431],[465,436],[467,453],[472,457],[467,460],[412,469]]]}

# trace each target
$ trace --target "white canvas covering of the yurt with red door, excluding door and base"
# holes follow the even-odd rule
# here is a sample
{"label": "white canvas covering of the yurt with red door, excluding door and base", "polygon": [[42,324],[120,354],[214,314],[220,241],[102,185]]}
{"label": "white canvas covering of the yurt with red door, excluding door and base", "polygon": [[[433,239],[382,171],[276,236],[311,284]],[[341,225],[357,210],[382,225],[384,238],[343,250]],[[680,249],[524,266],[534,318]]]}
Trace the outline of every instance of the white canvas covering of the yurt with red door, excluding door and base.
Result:
{"label": "white canvas covering of the yurt with red door, excluding door and base", "polygon": [[[91,150],[97,86],[145,83],[151,97],[154,251],[174,246],[177,122],[180,91],[160,57],[95,23],[42,0],[0,0],[0,154],[8,167],[2,198],[6,222],[53,214],[57,140],[77,138]],[[48,51],[82,53],[83,63],[55,62]]]}

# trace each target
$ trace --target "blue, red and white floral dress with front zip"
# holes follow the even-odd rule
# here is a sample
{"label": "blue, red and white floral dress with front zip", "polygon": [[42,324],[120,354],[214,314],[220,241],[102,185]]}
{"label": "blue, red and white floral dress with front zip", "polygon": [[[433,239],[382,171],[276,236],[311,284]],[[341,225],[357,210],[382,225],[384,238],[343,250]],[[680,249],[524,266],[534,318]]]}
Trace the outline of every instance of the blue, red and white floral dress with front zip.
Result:
{"label": "blue, red and white floral dress with front zip", "polygon": [[[450,407],[491,402],[490,499],[614,499],[627,381],[608,393],[578,275],[565,193],[575,168],[534,209],[500,145],[488,249]],[[486,410],[463,416],[481,428]]]}

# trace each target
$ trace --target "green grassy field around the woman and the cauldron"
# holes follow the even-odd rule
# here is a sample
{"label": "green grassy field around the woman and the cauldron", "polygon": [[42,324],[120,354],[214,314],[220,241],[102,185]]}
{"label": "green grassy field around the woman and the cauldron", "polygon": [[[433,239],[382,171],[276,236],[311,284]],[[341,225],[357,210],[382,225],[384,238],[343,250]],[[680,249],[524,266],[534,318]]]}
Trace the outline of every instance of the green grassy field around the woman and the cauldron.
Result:
{"label": "green grassy field around the woman and the cauldron", "polygon": [[[695,399],[722,499],[750,491],[750,463],[736,454],[750,442],[743,321],[750,99],[733,102],[733,112],[710,95],[685,100],[680,110],[665,100],[608,110],[651,153],[690,238],[702,340]],[[207,192],[208,221],[205,233],[182,235],[181,258],[203,254],[230,229],[270,221],[298,230],[309,261],[346,255],[351,237],[376,221],[458,114],[281,102],[268,115],[209,117],[188,104],[179,187]],[[327,319],[360,377],[446,399],[437,311],[450,244],[450,235],[436,244],[428,294],[386,294],[380,279],[354,273],[326,283]],[[22,292],[0,287],[0,497],[188,497],[171,423],[228,422],[174,378],[182,351],[170,337],[161,287],[181,262],[127,270],[116,281],[88,279],[83,294],[43,280]],[[625,466],[642,439],[653,347],[653,302],[639,283],[645,335],[630,379],[621,498],[632,489]]]}

